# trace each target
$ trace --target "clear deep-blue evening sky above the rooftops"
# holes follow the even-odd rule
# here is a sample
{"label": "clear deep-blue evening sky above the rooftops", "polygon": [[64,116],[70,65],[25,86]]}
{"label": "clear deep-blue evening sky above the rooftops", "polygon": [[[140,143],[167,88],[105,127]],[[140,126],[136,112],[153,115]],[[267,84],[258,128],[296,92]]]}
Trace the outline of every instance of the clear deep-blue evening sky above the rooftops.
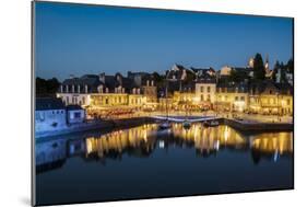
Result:
{"label": "clear deep-blue evening sky above the rooftops", "polygon": [[292,19],[36,2],[36,76],[246,66],[292,58]]}

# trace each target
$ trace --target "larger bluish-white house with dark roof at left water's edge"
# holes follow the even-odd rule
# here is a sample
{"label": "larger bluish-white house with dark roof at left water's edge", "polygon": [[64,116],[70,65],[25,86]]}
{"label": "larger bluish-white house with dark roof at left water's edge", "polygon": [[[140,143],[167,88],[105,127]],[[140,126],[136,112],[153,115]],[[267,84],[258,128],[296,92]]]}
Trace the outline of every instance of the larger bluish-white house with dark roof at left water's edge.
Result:
{"label": "larger bluish-white house with dark roof at left water's edge", "polygon": [[61,99],[37,97],[35,133],[61,130],[67,127],[67,112]]}

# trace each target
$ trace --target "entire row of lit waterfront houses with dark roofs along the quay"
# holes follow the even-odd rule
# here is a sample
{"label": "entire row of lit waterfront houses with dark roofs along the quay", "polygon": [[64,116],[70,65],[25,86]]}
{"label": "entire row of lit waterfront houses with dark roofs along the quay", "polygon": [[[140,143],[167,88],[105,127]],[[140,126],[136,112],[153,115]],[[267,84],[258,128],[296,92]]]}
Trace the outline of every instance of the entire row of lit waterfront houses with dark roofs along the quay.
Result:
{"label": "entire row of lit waterfront houses with dark roofs along the quay", "polygon": [[[267,67],[268,65],[265,70],[269,76],[271,70]],[[262,81],[222,81],[231,76],[231,70],[252,77],[252,65],[246,68],[224,67],[220,71],[174,65],[162,76],[162,87],[147,72],[128,72],[127,77],[120,73],[85,74],[64,80],[57,97],[66,105],[78,104],[88,112],[169,107],[293,114],[291,83],[281,83],[270,78]]]}

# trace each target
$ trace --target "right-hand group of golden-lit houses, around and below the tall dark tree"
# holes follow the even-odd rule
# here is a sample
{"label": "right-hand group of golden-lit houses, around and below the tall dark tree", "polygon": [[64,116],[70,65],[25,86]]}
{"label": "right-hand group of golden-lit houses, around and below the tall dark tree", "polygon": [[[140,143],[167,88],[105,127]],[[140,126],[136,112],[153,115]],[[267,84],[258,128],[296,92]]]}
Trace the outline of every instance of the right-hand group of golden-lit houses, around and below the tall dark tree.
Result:
{"label": "right-hand group of golden-lit houses, around and below the tall dark tree", "polygon": [[[250,62],[252,64],[252,61]],[[244,73],[248,79],[234,82],[227,79],[231,71]],[[257,114],[293,114],[293,85],[291,82],[275,81],[270,77],[252,79],[252,65],[245,68],[224,67],[220,71],[208,69],[187,69],[175,65],[168,76],[168,97],[161,96],[160,106],[173,110],[205,110],[217,112],[248,112]],[[194,79],[185,80],[187,72],[193,73]]]}

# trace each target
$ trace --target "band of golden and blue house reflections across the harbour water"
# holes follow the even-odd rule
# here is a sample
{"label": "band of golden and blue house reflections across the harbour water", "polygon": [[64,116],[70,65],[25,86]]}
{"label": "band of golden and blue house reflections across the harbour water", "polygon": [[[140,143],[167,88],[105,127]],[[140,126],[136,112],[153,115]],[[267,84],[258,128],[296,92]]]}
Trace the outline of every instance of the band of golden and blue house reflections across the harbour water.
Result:
{"label": "band of golden and blue house reflections across the harbour water", "polygon": [[149,157],[157,149],[194,148],[197,156],[208,157],[222,150],[250,152],[253,163],[263,158],[278,161],[293,153],[292,133],[271,133],[253,136],[221,125],[203,127],[193,124],[185,129],[181,124],[173,124],[170,129],[160,130],[156,124],[116,130],[98,137],[85,139],[58,139],[36,143],[36,165],[39,172],[60,168],[67,158],[82,157],[85,160],[119,159],[127,153]]}

